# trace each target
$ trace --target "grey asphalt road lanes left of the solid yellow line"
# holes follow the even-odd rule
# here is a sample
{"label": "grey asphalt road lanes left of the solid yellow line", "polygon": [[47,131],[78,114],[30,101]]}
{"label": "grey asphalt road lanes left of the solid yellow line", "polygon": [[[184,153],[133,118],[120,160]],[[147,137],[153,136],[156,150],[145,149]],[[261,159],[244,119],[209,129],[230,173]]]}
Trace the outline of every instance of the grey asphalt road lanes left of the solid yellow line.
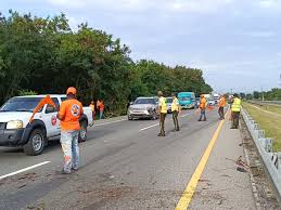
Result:
{"label": "grey asphalt road lanes left of the solid yellow line", "polygon": [[80,144],[81,167],[71,175],[58,172],[58,142],[36,157],[0,147],[0,178],[10,174],[0,179],[0,209],[175,209],[220,123],[215,110],[206,122],[197,117],[183,111],[180,132],[171,132],[168,116],[166,137],[157,137],[157,120],[99,121]]}

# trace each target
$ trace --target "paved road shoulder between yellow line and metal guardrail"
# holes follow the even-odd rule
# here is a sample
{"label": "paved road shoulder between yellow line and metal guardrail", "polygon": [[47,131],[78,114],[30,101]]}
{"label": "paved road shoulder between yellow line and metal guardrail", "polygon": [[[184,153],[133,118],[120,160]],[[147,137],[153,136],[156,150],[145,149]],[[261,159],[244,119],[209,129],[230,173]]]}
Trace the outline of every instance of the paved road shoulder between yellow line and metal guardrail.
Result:
{"label": "paved road shoulder between yellow line and metal guardrail", "polygon": [[226,121],[200,179],[190,209],[256,209],[248,172],[238,169],[245,160],[240,131]]}

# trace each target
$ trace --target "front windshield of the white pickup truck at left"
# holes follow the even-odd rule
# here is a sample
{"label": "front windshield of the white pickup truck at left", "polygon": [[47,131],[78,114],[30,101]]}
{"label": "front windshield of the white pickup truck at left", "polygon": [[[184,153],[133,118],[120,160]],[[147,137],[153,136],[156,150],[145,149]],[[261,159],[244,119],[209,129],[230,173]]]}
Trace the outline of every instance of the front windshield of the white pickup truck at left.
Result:
{"label": "front windshield of the white pickup truck at left", "polygon": [[[42,97],[13,97],[9,100],[0,111],[30,111],[33,113]],[[40,109],[39,111],[41,111]]]}

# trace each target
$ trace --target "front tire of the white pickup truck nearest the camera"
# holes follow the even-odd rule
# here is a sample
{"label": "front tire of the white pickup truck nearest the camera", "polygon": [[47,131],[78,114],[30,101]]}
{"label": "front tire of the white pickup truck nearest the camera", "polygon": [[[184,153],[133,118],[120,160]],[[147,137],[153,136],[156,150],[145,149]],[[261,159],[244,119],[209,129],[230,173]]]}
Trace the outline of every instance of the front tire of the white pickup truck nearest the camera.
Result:
{"label": "front tire of the white pickup truck nearest the camera", "polygon": [[31,131],[28,142],[24,145],[24,152],[28,156],[40,155],[46,145],[44,132],[41,129]]}

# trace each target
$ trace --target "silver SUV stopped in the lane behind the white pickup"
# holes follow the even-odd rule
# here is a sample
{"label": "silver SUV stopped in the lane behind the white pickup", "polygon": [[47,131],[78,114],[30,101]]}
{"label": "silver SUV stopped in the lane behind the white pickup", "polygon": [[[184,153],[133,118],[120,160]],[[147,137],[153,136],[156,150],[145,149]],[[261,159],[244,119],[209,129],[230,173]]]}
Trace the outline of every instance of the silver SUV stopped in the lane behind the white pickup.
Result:
{"label": "silver SUV stopped in the lane behind the white pickup", "polygon": [[158,99],[157,97],[138,97],[128,108],[128,120],[158,118]]}

